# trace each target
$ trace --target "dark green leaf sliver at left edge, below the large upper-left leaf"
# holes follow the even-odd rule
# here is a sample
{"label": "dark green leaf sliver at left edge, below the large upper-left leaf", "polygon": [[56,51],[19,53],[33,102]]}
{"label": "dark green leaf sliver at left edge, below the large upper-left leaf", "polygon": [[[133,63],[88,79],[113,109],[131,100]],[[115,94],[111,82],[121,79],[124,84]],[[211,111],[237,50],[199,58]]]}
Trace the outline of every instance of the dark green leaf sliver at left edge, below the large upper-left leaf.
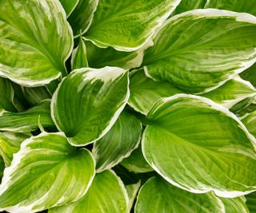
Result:
{"label": "dark green leaf sliver at left edge, below the large upper-left leaf", "polygon": [[6,78],[0,77],[0,110],[5,109],[6,111],[16,112],[14,107],[14,89]]}

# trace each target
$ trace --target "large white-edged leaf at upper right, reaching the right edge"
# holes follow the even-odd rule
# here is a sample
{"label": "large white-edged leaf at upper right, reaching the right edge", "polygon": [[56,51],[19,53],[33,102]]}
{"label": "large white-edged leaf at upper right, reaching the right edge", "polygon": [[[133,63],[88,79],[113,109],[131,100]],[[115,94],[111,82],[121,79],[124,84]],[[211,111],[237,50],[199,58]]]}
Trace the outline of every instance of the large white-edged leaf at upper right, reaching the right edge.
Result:
{"label": "large white-edged leaf at upper right, reaching the right edge", "polygon": [[168,19],[146,49],[146,75],[189,93],[206,93],[256,61],[256,18],[192,10]]}

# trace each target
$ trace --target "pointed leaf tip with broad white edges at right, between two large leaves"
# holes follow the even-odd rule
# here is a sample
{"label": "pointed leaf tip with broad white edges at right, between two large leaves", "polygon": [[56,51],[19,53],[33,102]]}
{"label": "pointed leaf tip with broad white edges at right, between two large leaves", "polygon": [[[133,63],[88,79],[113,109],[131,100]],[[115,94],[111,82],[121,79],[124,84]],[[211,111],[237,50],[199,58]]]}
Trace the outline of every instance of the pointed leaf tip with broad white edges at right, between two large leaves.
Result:
{"label": "pointed leaf tip with broad white edges at right, between two large leaves", "polygon": [[226,81],[224,85],[217,89],[202,94],[202,97],[207,97],[226,108],[232,108],[238,102],[255,96],[256,89],[254,89],[254,86],[240,77],[234,77],[234,79]]}

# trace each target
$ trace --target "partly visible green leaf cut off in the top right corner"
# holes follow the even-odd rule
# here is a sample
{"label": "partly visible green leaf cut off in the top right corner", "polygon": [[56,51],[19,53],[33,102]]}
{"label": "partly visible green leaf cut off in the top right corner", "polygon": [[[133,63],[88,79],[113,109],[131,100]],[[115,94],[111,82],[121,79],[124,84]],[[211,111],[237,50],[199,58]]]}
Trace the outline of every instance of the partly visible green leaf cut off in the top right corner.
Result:
{"label": "partly visible green leaf cut off in the top right corner", "polygon": [[218,8],[222,10],[231,10],[240,13],[249,13],[256,15],[255,0],[207,0],[205,8]]}

